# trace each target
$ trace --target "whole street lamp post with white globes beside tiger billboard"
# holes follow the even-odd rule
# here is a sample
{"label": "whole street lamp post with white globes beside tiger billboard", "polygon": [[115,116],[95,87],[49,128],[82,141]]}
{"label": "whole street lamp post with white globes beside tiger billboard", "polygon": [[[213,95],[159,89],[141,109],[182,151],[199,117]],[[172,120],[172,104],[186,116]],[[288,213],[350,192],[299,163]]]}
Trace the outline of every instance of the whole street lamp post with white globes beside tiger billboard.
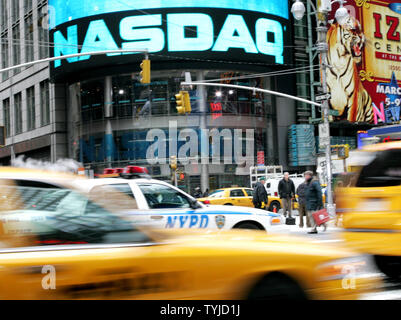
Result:
{"label": "whole street lamp post with white globes beside tiger billboard", "polygon": [[[307,0],[310,1],[311,0]],[[326,127],[328,135],[330,136],[330,125],[329,125],[329,98],[327,98],[327,79],[326,79],[326,68],[327,68],[327,52],[328,44],[326,41],[327,37],[327,16],[331,11],[331,5],[335,2],[340,2],[340,8],[337,9],[335,13],[336,20],[339,24],[342,24],[348,17],[348,11],[343,7],[345,3],[344,0],[321,0],[320,6],[317,10],[317,50],[319,52],[320,60],[320,74],[321,74],[321,84],[323,95],[326,98],[322,101],[322,112],[323,112],[323,125]],[[312,7],[314,7],[311,2]],[[291,8],[291,12],[295,19],[301,20],[305,14],[305,6],[300,0],[296,0]],[[333,190],[332,190],[332,168],[331,168],[331,146],[330,139],[325,146],[326,149],[326,177],[327,177],[327,212],[329,215],[335,215],[335,205],[333,203]]]}

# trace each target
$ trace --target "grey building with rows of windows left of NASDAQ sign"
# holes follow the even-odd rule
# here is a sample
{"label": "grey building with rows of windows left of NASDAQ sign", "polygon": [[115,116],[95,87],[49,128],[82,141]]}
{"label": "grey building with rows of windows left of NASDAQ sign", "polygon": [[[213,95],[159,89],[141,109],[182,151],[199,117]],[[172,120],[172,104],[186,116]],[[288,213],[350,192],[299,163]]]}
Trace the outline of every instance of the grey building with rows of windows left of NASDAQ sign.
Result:
{"label": "grey building with rows of windows left of NASDAQ sign", "polygon": [[[1,68],[49,57],[47,1],[0,2]],[[0,162],[27,157],[55,161],[67,157],[64,88],[50,82],[48,63],[0,75],[0,121],[6,146]]]}

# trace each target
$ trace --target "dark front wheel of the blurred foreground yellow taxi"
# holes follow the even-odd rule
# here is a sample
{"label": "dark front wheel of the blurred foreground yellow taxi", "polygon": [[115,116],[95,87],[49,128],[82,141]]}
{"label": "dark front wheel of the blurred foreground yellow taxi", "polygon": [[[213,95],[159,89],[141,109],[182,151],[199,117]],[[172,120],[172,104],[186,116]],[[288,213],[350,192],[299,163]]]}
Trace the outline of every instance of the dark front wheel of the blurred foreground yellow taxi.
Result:
{"label": "dark front wheel of the blurred foreground yellow taxi", "polygon": [[250,300],[307,300],[302,288],[290,277],[273,273],[264,277],[251,290]]}

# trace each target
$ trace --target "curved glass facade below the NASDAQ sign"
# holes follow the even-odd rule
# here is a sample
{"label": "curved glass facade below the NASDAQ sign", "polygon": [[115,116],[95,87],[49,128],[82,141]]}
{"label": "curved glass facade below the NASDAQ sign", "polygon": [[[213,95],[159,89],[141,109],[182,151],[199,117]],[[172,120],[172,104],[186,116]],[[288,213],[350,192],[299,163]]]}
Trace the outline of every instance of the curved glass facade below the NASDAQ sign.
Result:
{"label": "curved glass facade below the NASDAQ sign", "polygon": [[[270,89],[269,79],[238,79],[235,72],[193,71],[206,80]],[[249,166],[276,163],[275,110],[270,96],[220,87],[189,90],[192,111],[179,115],[175,94],[182,71],[152,73],[149,85],[136,74],[70,85],[70,150],[95,173],[128,164],[170,180],[169,157],[178,157],[179,186],[192,191],[207,170],[210,189],[249,185]],[[74,110],[75,109],[75,110]],[[72,115],[76,115],[75,118]],[[258,157],[257,157],[258,156]],[[207,164],[205,169],[204,164]],[[206,173],[204,173],[206,174]]]}

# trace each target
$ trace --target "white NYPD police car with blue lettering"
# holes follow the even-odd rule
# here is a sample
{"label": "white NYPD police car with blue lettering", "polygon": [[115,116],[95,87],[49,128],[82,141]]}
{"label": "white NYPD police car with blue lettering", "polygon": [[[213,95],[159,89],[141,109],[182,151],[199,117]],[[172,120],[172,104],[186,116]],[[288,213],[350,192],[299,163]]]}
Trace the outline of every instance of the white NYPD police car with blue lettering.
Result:
{"label": "white NYPD police car with blue lettering", "polygon": [[[99,178],[79,181],[78,188],[108,201],[108,194],[122,192],[132,201],[118,204],[138,224],[156,228],[210,228],[272,230],[283,225],[281,215],[246,207],[207,206],[182,190],[154,179]],[[99,196],[100,195],[100,196]]]}

